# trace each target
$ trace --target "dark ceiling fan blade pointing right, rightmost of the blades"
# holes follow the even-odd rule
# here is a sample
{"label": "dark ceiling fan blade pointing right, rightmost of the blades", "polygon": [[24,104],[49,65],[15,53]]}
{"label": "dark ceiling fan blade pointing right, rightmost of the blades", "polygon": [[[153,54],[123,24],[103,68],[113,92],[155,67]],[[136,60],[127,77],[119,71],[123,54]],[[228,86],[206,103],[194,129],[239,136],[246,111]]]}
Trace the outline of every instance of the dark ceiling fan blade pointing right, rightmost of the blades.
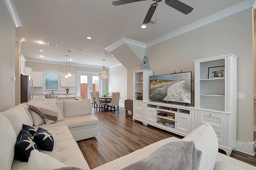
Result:
{"label": "dark ceiling fan blade pointing right, rightmost of the blades", "polygon": [[178,0],[165,0],[165,4],[182,12],[183,14],[188,14],[194,9]]}

